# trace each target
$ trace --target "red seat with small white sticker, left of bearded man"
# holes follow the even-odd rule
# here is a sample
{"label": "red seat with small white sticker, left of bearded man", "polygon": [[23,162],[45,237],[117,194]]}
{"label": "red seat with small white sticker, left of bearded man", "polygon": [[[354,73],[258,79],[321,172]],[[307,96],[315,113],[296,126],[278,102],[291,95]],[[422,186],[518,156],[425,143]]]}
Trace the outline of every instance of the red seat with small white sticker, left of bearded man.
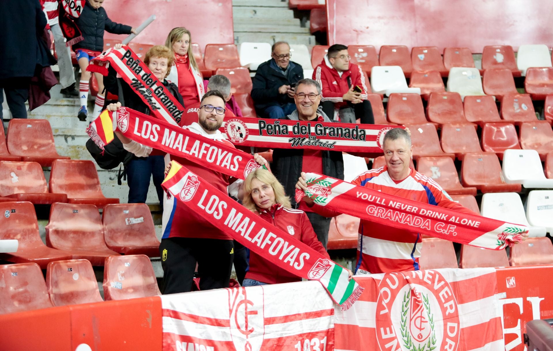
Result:
{"label": "red seat with small white sticker, left of bearded man", "polygon": [[123,255],[159,257],[152,212],[145,203],[107,205],[102,213],[104,239],[109,249]]}

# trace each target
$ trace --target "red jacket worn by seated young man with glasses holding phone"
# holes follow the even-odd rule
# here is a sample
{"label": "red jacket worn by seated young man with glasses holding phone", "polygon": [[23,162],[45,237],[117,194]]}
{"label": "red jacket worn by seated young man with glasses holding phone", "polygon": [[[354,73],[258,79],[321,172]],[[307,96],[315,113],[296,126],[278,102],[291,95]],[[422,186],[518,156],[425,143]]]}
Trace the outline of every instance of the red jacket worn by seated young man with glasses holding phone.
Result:
{"label": "red jacket worn by seated young man with glasses holding phone", "polygon": [[349,69],[342,72],[342,77],[338,71],[332,67],[328,61],[328,55],[322,59],[321,64],[313,72],[313,79],[319,82],[322,88],[321,101],[332,101],[336,108],[346,104],[342,96],[349,90],[348,80],[351,86],[361,88],[361,98],[367,99],[367,82],[361,67],[349,62]]}

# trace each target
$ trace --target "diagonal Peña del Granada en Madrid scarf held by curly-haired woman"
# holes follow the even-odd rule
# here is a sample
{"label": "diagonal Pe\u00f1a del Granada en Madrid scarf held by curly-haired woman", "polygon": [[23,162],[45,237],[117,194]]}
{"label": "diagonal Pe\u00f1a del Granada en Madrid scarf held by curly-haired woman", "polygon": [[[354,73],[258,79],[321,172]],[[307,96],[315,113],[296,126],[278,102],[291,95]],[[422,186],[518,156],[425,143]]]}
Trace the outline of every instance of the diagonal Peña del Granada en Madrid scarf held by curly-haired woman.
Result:
{"label": "diagonal Pe\u00f1a del Granada en Madrid scarf held by curly-haired woman", "polygon": [[86,70],[107,76],[107,64],[133,88],[155,117],[171,124],[179,124],[184,107],[128,46],[123,45],[119,50],[106,50],[92,59]]}

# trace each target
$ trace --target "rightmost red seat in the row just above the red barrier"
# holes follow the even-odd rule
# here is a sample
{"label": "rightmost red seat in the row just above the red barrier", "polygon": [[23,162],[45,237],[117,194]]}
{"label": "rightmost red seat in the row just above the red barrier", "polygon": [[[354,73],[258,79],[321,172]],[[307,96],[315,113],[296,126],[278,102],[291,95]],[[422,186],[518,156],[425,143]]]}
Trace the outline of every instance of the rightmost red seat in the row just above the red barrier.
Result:
{"label": "rightmost red seat in the row just above the red barrier", "polygon": [[549,238],[529,238],[511,248],[511,266],[553,264],[553,244]]}

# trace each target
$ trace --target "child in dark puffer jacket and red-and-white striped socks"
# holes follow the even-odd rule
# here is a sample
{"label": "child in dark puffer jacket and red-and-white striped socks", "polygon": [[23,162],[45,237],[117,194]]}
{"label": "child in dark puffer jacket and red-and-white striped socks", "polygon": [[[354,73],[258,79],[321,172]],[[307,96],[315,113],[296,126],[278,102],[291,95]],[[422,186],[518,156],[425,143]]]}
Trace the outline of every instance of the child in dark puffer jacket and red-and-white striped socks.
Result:
{"label": "child in dark puffer jacket and red-and-white striped socks", "polygon": [[[136,33],[136,30],[131,28],[130,25],[115,23],[109,19],[106,10],[102,7],[103,2],[104,0],[87,0],[80,17],[75,20],[75,24],[81,30],[82,37],[84,38],[84,40],[72,46],[81,69],[81,81],[79,83],[81,108],[79,109],[79,114],[77,114],[80,121],[86,121],[88,115],[86,107],[91,72],[88,72],[86,67],[88,67],[90,60],[100,55],[103,51],[104,30],[114,34]],[[98,95],[96,96],[92,119],[100,115],[104,104],[103,77],[98,73],[95,73],[95,75],[98,81]]]}

